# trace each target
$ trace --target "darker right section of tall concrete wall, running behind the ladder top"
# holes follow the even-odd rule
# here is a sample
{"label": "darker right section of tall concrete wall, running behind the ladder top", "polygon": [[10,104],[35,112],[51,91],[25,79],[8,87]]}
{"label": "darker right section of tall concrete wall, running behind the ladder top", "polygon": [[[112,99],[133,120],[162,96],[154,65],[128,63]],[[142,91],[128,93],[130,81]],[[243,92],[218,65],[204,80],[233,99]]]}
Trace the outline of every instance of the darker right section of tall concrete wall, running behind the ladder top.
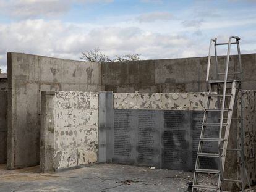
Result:
{"label": "darker right section of tall concrete wall, running behind the ladder top", "polygon": [[[226,57],[218,57],[224,72]],[[115,93],[201,92],[206,91],[208,57],[110,62],[101,67],[106,91]],[[212,57],[214,64],[215,57]],[[237,69],[237,56],[231,56],[230,72]],[[244,89],[256,90],[256,54],[242,55]],[[215,76],[215,65],[211,65]]]}

